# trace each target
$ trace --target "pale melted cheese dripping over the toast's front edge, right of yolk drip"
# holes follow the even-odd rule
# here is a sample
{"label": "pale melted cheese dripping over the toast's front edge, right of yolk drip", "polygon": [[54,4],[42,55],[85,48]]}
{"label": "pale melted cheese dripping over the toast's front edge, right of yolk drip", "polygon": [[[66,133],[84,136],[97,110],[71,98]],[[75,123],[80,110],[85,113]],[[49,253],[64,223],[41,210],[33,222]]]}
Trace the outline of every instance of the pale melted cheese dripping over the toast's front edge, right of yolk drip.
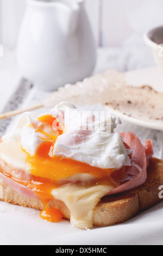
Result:
{"label": "pale melted cheese dripping over the toast's front edge, right of yolk drip", "polygon": [[71,224],[78,228],[93,227],[93,208],[113,186],[95,185],[84,187],[77,184],[63,186],[52,191],[70,210]]}

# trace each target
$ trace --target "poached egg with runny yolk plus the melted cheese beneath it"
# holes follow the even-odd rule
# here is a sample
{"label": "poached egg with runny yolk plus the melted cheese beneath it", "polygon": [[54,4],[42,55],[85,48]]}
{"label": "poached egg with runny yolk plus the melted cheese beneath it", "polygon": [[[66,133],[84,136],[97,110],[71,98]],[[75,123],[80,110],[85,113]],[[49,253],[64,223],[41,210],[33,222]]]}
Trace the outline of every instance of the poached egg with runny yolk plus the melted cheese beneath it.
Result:
{"label": "poached egg with runny yolk plus the melted cheese beneath it", "polygon": [[118,186],[111,173],[131,165],[131,150],[114,132],[117,124],[121,120],[110,113],[83,111],[68,102],[42,115],[24,113],[2,138],[0,160],[8,166],[1,164],[3,173],[34,191],[45,208],[43,219],[61,220],[59,210],[48,208],[55,198],[66,204],[73,225],[90,228],[93,208]]}

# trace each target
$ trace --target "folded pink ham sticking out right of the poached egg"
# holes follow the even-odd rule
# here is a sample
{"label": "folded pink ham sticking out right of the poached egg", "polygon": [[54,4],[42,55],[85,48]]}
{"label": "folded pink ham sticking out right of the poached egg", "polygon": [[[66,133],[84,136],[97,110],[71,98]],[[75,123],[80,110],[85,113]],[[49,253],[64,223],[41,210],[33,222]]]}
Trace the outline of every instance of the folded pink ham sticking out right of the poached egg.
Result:
{"label": "folded pink ham sticking out right of the poached egg", "polygon": [[133,150],[133,153],[131,154],[131,166],[125,167],[125,170],[123,170],[123,168],[117,170],[117,173],[113,174],[112,178],[114,178],[114,175],[118,175],[118,172],[125,171],[123,179],[118,180],[121,185],[110,191],[108,194],[121,193],[144,184],[147,179],[148,161],[153,156],[153,145],[151,140],[146,141],[145,145],[142,145],[140,139],[132,132],[121,133],[121,136],[123,142]]}

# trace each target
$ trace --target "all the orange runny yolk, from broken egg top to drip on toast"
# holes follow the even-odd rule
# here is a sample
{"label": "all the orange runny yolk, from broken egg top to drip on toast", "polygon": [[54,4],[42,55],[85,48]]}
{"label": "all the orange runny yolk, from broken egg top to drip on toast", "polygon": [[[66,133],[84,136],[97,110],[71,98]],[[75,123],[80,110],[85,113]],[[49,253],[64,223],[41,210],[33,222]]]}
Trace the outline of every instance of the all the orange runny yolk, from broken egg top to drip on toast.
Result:
{"label": "all the orange runny yolk, from broken egg top to drip on toast", "polygon": [[[55,118],[51,115],[44,115],[39,118],[39,120],[44,124],[53,126]],[[56,123],[59,126],[58,123]],[[55,125],[56,125],[55,124]],[[39,132],[44,133],[39,127]],[[55,129],[54,129],[55,130]],[[51,151],[55,147],[55,137],[57,139],[63,131],[59,129],[57,131],[57,136],[49,136],[40,147],[34,156],[30,156],[26,159],[30,172],[33,175],[32,181],[18,181],[20,184],[27,186],[32,190],[37,198],[43,203],[44,209],[40,212],[40,217],[43,220],[50,222],[58,222],[62,219],[62,213],[58,209],[48,208],[48,203],[50,200],[54,199],[52,196],[52,190],[63,184],[70,184],[71,176],[75,174],[91,174],[94,179],[92,184],[107,184],[118,186],[118,182],[111,178],[112,169],[101,169],[97,167],[92,167],[89,164],[74,161],[72,159],[64,159],[58,156],[51,156]],[[65,182],[65,183],[64,183]],[[82,184],[82,181],[79,181]]]}

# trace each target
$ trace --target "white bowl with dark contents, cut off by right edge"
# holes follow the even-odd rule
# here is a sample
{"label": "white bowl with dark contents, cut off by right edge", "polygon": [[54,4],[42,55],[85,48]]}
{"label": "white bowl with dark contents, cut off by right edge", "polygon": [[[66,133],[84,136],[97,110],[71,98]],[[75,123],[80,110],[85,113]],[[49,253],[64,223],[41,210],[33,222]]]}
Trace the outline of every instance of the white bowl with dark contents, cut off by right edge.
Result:
{"label": "white bowl with dark contents, cut off by right edge", "polygon": [[163,26],[147,31],[144,34],[144,40],[151,49],[155,62],[163,75]]}

